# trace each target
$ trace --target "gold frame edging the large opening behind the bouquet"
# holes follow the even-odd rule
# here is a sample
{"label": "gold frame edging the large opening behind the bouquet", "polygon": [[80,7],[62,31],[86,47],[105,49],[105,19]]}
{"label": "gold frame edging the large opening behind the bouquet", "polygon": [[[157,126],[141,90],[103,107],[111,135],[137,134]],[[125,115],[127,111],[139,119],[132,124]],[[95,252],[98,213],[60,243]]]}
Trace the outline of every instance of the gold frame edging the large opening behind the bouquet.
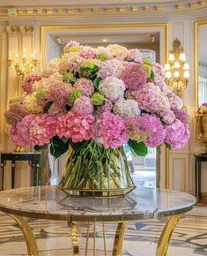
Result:
{"label": "gold frame edging the large opening behind the bouquet", "polygon": [[[164,45],[165,45],[165,53],[163,63],[166,63],[166,59],[168,57],[168,23],[136,23],[136,24],[100,24],[100,25],[51,25],[51,26],[41,26],[40,31],[40,45],[41,45],[41,66],[42,66],[42,56],[45,49],[45,34],[47,31],[51,31],[53,29],[89,29],[89,28],[129,28],[129,27],[137,27],[137,28],[144,28],[144,27],[157,27],[162,28],[164,30]],[[165,147],[165,188],[169,188],[169,149]],[[159,171],[160,172],[160,171]],[[157,173],[160,176],[160,173]]]}

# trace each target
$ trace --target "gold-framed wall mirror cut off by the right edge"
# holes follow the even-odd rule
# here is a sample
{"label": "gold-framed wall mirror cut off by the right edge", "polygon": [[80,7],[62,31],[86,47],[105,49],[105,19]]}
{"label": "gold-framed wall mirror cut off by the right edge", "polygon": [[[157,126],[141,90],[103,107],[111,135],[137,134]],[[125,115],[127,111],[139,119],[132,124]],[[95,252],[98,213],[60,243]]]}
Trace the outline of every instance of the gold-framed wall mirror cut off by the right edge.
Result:
{"label": "gold-framed wall mirror cut off by the right edge", "polygon": [[196,22],[196,107],[207,102],[207,19]]}

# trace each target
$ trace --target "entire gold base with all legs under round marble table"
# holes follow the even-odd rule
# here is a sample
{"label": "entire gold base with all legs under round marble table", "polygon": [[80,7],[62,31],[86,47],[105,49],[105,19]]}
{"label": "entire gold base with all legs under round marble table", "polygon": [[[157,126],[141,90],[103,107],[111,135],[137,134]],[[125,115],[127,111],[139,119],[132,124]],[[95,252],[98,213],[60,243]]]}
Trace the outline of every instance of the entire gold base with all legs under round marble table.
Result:
{"label": "entire gold base with all legs under round marble table", "polygon": [[[38,247],[36,244],[35,237],[33,236],[33,231],[29,227],[26,220],[18,215],[11,215],[11,217],[18,223],[20,230],[23,233],[23,236],[26,240],[26,247],[28,255],[39,255]],[[166,252],[169,246],[170,238],[173,234],[174,228],[177,222],[181,219],[181,215],[173,215],[170,216],[168,222],[166,222],[166,226],[161,233],[159,238],[159,243],[157,246],[156,256],[166,256]],[[89,239],[89,224],[87,226],[87,237],[86,237],[86,244],[85,244],[85,256],[87,256],[88,252],[88,239]],[[124,240],[124,232],[126,230],[127,222],[118,222],[117,228],[115,231],[115,240],[113,246],[112,256],[122,256],[122,245]],[[102,222],[103,228],[103,245],[104,245],[104,255],[107,256],[107,242],[106,242],[106,231],[105,231],[105,222]],[[73,255],[79,255],[79,248],[78,248],[78,230],[76,227],[75,222],[70,222],[70,235],[71,235],[71,242],[72,242],[72,249]],[[96,255],[96,222],[93,222],[93,256]]]}

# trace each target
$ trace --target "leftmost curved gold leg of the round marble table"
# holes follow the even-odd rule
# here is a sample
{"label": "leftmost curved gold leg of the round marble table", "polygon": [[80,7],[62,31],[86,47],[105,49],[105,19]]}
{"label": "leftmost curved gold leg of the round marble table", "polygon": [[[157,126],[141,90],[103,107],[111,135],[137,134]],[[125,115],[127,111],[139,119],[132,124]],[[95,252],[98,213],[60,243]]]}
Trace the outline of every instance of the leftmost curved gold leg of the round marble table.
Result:
{"label": "leftmost curved gold leg of the round marble table", "polygon": [[37,243],[35,240],[35,237],[33,236],[33,231],[31,230],[30,226],[28,225],[28,222],[26,220],[18,215],[10,215],[11,218],[14,219],[15,222],[18,223],[18,227],[22,231],[25,240],[26,240],[26,247],[28,251],[28,255],[39,255]]}

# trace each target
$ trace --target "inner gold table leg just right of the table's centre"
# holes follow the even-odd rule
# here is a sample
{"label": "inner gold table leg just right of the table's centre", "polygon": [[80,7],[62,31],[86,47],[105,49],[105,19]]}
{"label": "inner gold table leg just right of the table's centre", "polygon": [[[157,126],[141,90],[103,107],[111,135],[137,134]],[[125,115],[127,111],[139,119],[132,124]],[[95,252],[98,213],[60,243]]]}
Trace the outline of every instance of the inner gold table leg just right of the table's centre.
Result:
{"label": "inner gold table leg just right of the table's centre", "polygon": [[123,237],[126,230],[127,222],[118,222],[115,231],[115,241],[113,246],[113,256],[122,256]]}

